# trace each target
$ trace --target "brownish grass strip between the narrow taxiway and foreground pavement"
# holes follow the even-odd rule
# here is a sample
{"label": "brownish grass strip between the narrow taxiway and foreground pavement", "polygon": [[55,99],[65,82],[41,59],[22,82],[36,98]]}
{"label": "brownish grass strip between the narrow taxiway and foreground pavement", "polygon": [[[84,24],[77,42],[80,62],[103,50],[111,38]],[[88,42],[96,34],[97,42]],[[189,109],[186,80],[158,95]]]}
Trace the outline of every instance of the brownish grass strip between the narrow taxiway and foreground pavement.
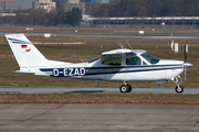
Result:
{"label": "brownish grass strip between the narrow taxiway and foreground pavement", "polygon": [[199,95],[177,94],[1,94],[0,103],[199,105]]}

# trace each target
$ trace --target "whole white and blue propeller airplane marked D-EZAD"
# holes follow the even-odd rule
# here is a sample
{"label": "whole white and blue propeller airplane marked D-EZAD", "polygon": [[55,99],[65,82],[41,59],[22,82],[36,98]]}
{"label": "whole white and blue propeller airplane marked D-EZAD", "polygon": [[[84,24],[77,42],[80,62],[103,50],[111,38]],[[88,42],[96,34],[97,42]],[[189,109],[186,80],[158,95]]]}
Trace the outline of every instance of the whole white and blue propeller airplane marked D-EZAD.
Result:
{"label": "whole white and blue propeller airplane marked D-EZAD", "polygon": [[66,77],[91,80],[124,81],[121,92],[130,92],[130,81],[175,82],[176,92],[184,87],[180,74],[193,64],[184,61],[159,59],[144,50],[119,48],[103,52],[87,63],[66,63],[46,59],[24,34],[6,34],[20,70],[35,76]]}

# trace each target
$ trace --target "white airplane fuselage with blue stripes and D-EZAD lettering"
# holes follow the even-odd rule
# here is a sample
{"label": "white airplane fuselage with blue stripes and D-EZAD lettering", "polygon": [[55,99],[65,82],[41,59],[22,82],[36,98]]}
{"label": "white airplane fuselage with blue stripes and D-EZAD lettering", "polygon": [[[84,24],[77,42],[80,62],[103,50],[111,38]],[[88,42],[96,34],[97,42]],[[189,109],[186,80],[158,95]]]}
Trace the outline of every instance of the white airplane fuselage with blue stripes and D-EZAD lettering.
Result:
{"label": "white airplane fuselage with blue stripes and D-EZAD lettering", "polygon": [[34,75],[112,81],[160,81],[170,80],[184,72],[182,61],[160,59],[156,65],[104,66],[102,61],[66,64],[34,69]]}

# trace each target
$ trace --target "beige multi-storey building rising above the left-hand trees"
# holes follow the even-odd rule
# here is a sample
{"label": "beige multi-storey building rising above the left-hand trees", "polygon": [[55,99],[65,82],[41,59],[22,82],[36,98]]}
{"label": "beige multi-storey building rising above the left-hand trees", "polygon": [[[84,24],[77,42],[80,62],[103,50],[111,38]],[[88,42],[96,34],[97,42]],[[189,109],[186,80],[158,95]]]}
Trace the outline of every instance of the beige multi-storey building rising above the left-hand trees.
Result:
{"label": "beige multi-storey building rising above the left-hand trees", "polygon": [[44,9],[46,12],[56,9],[56,3],[52,2],[52,0],[38,0],[36,2],[32,2],[33,9]]}

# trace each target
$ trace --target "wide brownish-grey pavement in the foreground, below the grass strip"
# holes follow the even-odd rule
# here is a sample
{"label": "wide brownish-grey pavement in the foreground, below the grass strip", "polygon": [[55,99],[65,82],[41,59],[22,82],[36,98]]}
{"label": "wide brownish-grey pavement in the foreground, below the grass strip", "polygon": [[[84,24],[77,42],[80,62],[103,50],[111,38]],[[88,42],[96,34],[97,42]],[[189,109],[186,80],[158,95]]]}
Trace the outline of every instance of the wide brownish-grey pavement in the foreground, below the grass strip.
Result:
{"label": "wide brownish-grey pavement in the foreground, below the grass strip", "polygon": [[199,106],[0,105],[0,131],[199,131]]}

